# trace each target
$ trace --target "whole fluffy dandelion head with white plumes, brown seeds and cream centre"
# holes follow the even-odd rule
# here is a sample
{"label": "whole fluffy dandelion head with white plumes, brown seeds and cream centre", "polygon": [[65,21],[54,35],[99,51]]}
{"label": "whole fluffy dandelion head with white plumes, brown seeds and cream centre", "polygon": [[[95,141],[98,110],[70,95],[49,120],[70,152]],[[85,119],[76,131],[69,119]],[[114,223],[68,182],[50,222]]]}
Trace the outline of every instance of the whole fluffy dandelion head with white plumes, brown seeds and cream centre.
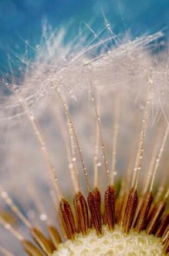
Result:
{"label": "whole fluffy dandelion head with white plumes, brown seeds and cream centre", "polygon": [[152,54],[163,34],[87,27],[82,49],[44,27],[22,81],[12,68],[2,80],[3,255],[169,252],[168,71]]}

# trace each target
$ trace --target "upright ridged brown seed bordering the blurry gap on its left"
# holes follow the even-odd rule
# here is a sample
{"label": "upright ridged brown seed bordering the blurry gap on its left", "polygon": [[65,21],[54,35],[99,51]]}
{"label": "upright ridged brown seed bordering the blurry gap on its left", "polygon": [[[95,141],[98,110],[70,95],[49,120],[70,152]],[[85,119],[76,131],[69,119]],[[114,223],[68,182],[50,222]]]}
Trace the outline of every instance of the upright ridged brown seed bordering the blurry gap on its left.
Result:
{"label": "upright ridged brown seed bordering the blurry gap on its left", "polygon": [[105,214],[109,230],[115,225],[115,190],[113,186],[108,186],[105,192]]}

